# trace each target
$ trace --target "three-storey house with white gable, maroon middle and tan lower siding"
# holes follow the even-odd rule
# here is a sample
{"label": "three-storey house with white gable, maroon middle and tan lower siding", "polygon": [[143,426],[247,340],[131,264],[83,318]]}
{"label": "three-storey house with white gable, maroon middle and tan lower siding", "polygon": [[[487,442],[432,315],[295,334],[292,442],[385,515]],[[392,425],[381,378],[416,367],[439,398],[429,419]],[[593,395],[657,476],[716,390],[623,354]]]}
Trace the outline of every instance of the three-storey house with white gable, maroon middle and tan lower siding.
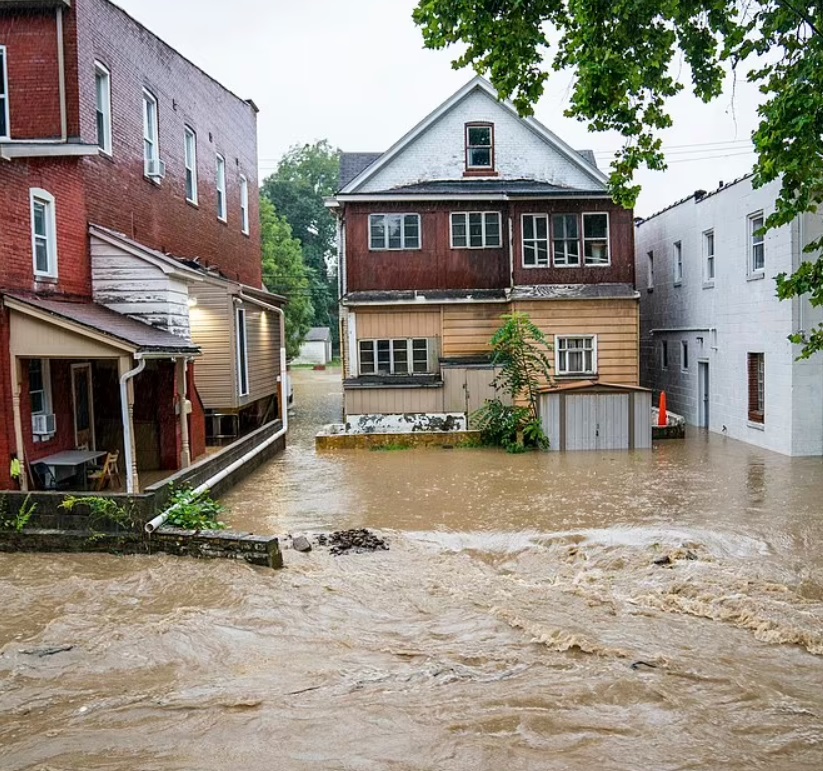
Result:
{"label": "three-storey house with white gable, maroon middle and tan lower siding", "polygon": [[387,152],[344,153],[329,205],[349,424],[465,425],[494,395],[489,341],[512,311],[553,344],[558,382],[637,385],[632,212],[590,152],[485,79]]}

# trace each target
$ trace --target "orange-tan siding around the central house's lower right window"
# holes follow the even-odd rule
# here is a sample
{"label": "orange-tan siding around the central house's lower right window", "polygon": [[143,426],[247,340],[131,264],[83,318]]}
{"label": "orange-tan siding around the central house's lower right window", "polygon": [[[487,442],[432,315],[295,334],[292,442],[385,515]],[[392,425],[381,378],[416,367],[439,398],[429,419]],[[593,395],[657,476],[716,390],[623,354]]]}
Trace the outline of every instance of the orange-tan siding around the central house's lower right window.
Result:
{"label": "orange-tan siding around the central house's lower right window", "polygon": [[[638,385],[639,323],[636,300],[519,302],[550,342],[554,336],[597,335],[597,375],[606,383]],[[552,357],[554,364],[554,357]]]}

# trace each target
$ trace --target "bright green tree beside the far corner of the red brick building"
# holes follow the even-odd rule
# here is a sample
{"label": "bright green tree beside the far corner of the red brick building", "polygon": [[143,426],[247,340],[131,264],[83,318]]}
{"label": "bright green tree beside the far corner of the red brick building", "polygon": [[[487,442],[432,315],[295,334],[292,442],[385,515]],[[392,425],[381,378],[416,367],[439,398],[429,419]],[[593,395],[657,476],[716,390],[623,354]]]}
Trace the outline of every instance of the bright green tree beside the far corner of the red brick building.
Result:
{"label": "bright green tree beside the far corner of the red brick building", "polygon": [[292,359],[314,318],[309,275],[303,262],[300,242],[271,201],[260,199],[260,233],[263,246],[263,283],[270,292],[285,295],[286,356]]}

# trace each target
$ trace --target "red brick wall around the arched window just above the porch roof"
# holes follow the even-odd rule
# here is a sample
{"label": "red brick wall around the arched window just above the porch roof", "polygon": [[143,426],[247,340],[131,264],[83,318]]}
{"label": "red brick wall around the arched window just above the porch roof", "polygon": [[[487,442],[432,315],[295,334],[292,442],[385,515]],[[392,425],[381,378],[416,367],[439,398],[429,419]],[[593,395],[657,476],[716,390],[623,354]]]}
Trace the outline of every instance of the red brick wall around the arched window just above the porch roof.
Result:
{"label": "red brick wall around the arched window just above the porch roof", "polygon": [[[31,188],[55,198],[56,282],[34,279]],[[80,161],[65,159],[0,162],[0,289],[91,296],[86,198]]]}

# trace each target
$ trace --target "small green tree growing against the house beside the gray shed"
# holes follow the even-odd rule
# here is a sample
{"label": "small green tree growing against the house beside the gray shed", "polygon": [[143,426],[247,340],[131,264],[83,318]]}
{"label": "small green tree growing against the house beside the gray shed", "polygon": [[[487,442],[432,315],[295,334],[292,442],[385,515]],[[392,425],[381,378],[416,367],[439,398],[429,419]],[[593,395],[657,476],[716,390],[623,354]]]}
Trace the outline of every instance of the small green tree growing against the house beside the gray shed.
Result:
{"label": "small green tree growing against the house beside the gray shed", "polygon": [[540,386],[551,381],[551,346],[528,314],[515,312],[501,318],[503,324],[491,339],[492,364],[500,368],[493,382],[514,404],[499,397],[487,401],[474,413],[475,423],[487,444],[508,452],[548,447],[538,399]]}

